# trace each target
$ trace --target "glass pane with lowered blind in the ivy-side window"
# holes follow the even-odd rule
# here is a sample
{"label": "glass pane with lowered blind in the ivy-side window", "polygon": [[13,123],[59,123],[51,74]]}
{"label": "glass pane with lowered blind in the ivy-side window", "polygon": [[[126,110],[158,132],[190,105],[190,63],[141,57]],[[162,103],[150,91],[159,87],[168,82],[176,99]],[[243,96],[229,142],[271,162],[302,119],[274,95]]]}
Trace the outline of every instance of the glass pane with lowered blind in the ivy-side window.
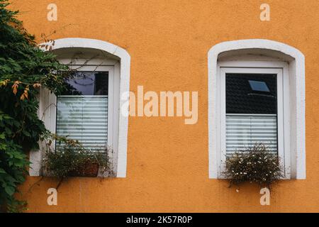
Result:
{"label": "glass pane with lowered blind in the ivy-side window", "polygon": [[57,135],[79,140],[93,151],[108,138],[108,72],[77,72],[57,96]]}

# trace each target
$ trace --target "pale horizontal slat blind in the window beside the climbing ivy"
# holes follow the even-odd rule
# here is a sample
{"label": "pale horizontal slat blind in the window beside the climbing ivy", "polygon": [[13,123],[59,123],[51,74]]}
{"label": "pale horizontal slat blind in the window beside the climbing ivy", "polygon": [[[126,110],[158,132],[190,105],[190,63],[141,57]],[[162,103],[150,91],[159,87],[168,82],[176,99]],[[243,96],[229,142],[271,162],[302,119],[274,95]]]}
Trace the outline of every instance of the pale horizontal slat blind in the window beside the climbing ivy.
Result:
{"label": "pale horizontal slat blind in the window beside the climbing ivy", "polygon": [[79,140],[92,151],[106,148],[108,96],[58,96],[57,135]]}

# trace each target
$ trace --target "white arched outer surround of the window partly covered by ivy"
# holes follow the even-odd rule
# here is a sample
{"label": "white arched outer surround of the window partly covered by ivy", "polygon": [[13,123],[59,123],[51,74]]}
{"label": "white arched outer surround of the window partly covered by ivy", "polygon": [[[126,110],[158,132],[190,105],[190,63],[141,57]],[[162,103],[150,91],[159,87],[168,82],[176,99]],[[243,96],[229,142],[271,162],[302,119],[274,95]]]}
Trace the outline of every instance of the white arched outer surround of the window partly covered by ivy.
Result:
{"label": "white arched outer surround of the window partly covered by ivy", "polygon": [[[119,66],[114,65],[114,73],[118,74],[119,79],[119,104],[123,106],[126,100],[120,99],[122,94],[128,94],[130,90],[130,55],[123,48],[113,45],[106,41],[94,40],[87,38],[62,38],[55,40],[55,45],[52,46],[52,50],[58,50],[62,48],[89,48],[94,50],[101,50],[107,52],[119,60]],[[55,109],[55,106],[50,107]],[[40,98],[40,109],[41,109],[41,98]],[[41,110],[40,110],[41,111]],[[128,113],[123,113],[125,109],[118,111],[118,136],[116,141],[118,143],[116,150],[116,177],[126,177],[126,166],[127,166],[127,142],[128,142]],[[128,111],[128,109],[127,109]],[[50,119],[55,121],[55,119]],[[51,124],[48,122],[46,124]],[[53,123],[55,125],[55,123]],[[42,154],[38,150],[30,152],[30,176],[40,175]]]}

